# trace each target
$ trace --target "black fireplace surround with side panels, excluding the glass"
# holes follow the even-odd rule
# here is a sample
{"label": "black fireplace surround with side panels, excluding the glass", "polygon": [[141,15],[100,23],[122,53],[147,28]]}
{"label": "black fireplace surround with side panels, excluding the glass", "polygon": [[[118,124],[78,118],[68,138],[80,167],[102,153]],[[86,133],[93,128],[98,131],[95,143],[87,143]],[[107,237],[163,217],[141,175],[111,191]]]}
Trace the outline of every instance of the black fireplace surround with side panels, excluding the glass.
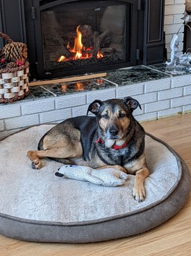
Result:
{"label": "black fireplace surround with side panels, excluding the glass", "polygon": [[[44,1],[44,0],[43,0]],[[55,3],[78,2],[81,0],[53,0]],[[87,0],[83,0],[87,1]],[[90,2],[91,0],[88,0]],[[111,0],[105,0],[111,1]],[[115,0],[121,3],[132,3],[131,27],[131,61],[107,65],[106,68],[88,68],[88,72],[125,68],[140,64],[150,65],[162,63],[165,58],[164,8],[165,0]],[[51,3],[45,0],[47,6]],[[40,31],[40,3],[42,0],[0,0],[0,31],[7,33],[15,41],[21,41],[28,46],[28,59],[30,61],[31,78],[48,79],[65,75],[77,75],[84,70],[72,70],[66,73],[45,74],[42,59],[42,47],[37,45],[36,38],[41,36]],[[10,6],[12,6],[10,8]],[[156,12],[156,8],[158,11]],[[137,31],[137,33],[133,33]],[[144,33],[142,33],[144,31]],[[5,42],[0,40],[0,47]],[[76,72],[76,73],[75,73]],[[86,70],[87,72],[87,70]]]}

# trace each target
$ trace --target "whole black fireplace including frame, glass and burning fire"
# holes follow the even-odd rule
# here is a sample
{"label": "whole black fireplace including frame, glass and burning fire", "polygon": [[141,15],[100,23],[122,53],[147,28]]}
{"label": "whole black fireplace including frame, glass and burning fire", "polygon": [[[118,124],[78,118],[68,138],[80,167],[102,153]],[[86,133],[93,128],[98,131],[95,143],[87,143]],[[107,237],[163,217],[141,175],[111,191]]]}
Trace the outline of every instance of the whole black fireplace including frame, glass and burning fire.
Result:
{"label": "whole black fireplace including frame, glass and burning fire", "polygon": [[[3,0],[4,6],[8,1]],[[14,15],[22,20],[31,77],[48,79],[163,62],[164,2],[20,0]]]}

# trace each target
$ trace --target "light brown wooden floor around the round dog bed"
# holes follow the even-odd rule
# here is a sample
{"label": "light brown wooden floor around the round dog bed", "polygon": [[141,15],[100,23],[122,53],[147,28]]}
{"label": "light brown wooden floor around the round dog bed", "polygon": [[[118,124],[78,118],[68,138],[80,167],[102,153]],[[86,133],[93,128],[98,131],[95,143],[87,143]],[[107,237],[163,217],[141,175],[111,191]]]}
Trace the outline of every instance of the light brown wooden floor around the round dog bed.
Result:
{"label": "light brown wooden floor around the round dog bed", "polygon": [[[191,114],[142,123],[144,129],[167,142],[191,171]],[[0,235],[1,256],[189,256],[191,255],[191,197],[160,227],[124,239],[88,244],[28,243]]]}

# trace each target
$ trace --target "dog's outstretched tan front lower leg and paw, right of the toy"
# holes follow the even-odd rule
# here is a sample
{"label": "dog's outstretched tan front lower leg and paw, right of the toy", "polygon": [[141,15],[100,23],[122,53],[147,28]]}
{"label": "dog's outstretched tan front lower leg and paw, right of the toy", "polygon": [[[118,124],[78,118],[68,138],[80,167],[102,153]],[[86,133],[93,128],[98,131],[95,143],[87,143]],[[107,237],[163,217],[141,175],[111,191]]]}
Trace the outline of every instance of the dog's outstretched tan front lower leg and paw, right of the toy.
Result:
{"label": "dog's outstretched tan front lower leg and paw, right of the toy", "polygon": [[146,196],[146,192],[144,188],[144,179],[146,179],[148,176],[149,176],[149,170],[147,169],[147,167],[144,167],[135,173],[133,197],[138,202],[144,201],[144,198]]}

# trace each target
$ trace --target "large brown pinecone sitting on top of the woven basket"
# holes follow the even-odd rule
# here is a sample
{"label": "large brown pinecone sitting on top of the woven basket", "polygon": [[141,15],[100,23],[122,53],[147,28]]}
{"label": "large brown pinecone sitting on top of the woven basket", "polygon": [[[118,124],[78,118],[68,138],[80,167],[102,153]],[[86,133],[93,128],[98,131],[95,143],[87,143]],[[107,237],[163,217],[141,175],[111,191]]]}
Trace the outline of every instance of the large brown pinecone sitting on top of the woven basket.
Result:
{"label": "large brown pinecone sitting on top of the woven basket", "polygon": [[10,42],[2,49],[7,61],[25,61],[27,58],[27,47],[24,43]]}

